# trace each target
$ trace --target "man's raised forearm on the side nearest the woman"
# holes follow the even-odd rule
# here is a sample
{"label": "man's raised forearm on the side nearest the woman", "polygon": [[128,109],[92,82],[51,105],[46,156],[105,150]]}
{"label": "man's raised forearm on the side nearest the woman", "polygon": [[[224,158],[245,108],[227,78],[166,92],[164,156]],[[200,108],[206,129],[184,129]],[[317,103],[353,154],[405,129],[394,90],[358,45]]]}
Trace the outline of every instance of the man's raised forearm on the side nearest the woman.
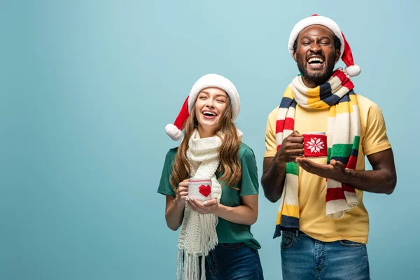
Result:
{"label": "man's raised forearm on the side nearest the woman", "polygon": [[274,157],[269,168],[262,174],[261,185],[264,195],[270,202],[280,199],[286,177],[286,162]]}

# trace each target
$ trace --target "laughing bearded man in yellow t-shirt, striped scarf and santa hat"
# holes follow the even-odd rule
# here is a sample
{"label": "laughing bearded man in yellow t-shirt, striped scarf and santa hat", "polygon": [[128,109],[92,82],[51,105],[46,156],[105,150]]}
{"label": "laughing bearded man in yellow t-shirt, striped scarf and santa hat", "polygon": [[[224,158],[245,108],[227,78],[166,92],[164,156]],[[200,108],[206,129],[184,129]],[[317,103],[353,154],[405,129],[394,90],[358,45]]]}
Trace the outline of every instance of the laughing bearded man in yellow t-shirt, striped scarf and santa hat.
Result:
{"label": "laughing bearded man in yellow t-shirt, striped scarf and santa hat", "polygon": [[[349,77],[360,68],[337,23],[305,18],[288,45],[301,75],[268,116],[261,179],[269,201],[281,198],[274,238],[281,235],[283,279],[370,279],[363,192],[391,194],[396,184],[384,118],[353,92]],[[340,58],[345,71],[334,70]],[[304,143],[309,132],[325,132],[327,143]],[[314,158],[304,157],[308,147]],[[316,157],[323,149],[328,157]]]}

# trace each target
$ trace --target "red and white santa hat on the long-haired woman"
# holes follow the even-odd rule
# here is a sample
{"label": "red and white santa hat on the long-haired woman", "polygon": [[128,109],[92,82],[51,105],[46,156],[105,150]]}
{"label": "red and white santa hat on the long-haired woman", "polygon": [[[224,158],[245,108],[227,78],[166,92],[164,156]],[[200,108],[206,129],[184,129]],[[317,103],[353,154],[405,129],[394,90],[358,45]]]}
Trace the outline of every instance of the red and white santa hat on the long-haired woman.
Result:
{"label": "red and white santa hat on the long-haired woman", "polygon": [[173,140],[181,139],[183,124],[190,116],[191,109],[193,109],[195,104],[195,99],[197,99],[198,94],[207,87],[218,87],[228,94],[230,104],[232,106],[232,123],[235,122],[241,105],[239,94],[235,85],[230,80],[221,75],[207,74],[199,78],[193,85],[193,88],[191,88],[190,95],[188,95],[181,108],[181,111],[179,111],[174,124],[169,124],[165,127],[167,134]]}

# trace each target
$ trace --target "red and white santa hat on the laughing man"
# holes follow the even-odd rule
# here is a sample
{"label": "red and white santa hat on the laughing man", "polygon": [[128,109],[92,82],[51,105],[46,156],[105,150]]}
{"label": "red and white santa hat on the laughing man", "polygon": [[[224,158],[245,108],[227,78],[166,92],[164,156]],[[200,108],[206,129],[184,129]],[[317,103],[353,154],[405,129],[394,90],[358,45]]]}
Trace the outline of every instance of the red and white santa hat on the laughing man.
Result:
{"label": "red and white santa hat on the laughing man", "polygon": [[295,27],[293,27],[288,41],[288,50],[290,52],[290,55],[292,55],[293,57],[293,53],[295,52],[295,50],[293,50],[293,45],[300,31],[302,31],[306,27],[309,27],[310,25],[323,25],[330,29],[332,33],[334,33],[335,36],[339,38],[339,41],[342,43],[339,56],[347,66],[345,71],[351,77],[358,76],[358,74],[360,74],[360,67],[354,64],[353,54],[351,53],[350,45],[349,43],[347,43],[344,34],[339,29],[339,26],[334,20],[331,20],[330,18],[325,18],[321,15],[314,14],[309,18],[304,18],[303,20],[300,20],[300,22],[297,22]]}

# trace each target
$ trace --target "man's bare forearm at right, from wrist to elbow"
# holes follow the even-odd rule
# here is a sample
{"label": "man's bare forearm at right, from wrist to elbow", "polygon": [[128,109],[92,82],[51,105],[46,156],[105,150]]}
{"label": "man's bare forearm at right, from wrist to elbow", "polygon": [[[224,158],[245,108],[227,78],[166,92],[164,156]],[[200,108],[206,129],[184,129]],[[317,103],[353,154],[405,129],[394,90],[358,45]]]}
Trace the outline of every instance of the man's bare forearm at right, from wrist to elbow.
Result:
{"label": "man's bare forearm at right, from wrist to elbow", "polygon": [[390,195],[397,183],[395,174],[387,169],[358,171],[346,169],[343,178],[337,181],[348,186],[370,193],[386,193]]}

